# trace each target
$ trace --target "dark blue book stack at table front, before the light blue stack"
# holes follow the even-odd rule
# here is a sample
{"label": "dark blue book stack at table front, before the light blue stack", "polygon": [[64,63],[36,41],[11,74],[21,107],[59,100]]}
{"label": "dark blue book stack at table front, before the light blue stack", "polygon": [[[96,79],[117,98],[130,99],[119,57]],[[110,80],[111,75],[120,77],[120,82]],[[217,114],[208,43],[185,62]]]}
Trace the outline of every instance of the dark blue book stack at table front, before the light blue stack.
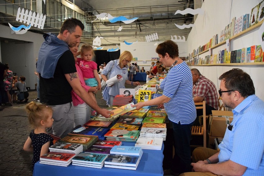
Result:
{"label": "dark blue book stack at table front, before the light blue stack", "polygon": [[104,161],[104,164],[137,167],[139,161],[139,156],[110,154]]}

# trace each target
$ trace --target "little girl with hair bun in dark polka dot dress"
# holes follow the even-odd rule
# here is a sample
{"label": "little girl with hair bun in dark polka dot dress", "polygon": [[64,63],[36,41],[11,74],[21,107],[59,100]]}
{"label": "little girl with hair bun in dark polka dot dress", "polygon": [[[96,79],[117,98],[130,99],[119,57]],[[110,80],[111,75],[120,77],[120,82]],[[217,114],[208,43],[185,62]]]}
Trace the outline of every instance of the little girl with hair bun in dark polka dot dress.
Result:
{"label": "little girl with hair bun in dark polka dot dress", "polygon": [[46,132],[46,128],[51,127],[53,123],[52,109],[31,101],[26,106],[26,110],[33,130],[24,144],[24,150],[33,152],[32,170],[34,170],[34,165],[39,161],[39,157],[48,153],[49,147],[53,145],[53,138]]}

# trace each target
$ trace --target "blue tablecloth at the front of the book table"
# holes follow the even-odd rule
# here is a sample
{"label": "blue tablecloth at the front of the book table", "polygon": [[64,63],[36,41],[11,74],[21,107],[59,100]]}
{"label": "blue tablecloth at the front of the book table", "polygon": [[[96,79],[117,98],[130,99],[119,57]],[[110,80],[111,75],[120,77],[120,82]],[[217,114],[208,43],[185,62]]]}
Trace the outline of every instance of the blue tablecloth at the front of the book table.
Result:
{"label": "blue tablecloth at the front of the book table", "polygon": [[[134,142],[122,142],[122,145],[134,146]],[[102,169],[68,165],[68,167],[35,164],[33,176],[163,176],[162,161],[163,150],[143,149],[143,155],[139,161],[137,170],[125,170],[103,167]]]}

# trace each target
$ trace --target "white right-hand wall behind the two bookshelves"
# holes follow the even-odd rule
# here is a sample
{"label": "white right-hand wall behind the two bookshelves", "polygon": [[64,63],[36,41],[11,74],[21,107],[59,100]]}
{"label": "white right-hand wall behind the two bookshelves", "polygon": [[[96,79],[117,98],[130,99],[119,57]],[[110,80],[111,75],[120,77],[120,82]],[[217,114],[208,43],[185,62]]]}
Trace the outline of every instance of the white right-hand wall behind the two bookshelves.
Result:
{"label": "white right-hand wall behind the two bookshelves", "polygon": [[[255,7],[262,0],[205,0],[202,9],[205,11],[204,15],[198,15],[195,26],[187,39],[187,54],[191,53],[193,49],[197,49],[200,45],[205,45],[213,37],[213,35],[220,35],[220,31],[224,29],[232,20],[233,17],[238,18],[246,13],[251,13],[251,9]],[[243,47],[250,47],[252,45],[260,45],[260,40],[257,38],[257,30],[252,30],[238,38],[231,41],[231,51],[241,49]],[[219,41],[219,40],[218,40]],[[219,50],[225,49],[225,45],[213,49],[212,53],[217,54]],[[209,55],[208,52],[201,54],[201,58]],[[197,68],[202,75],[209,78],[219,88],[219,76],[222,73],[231,70],[232,68],[240,68],[246,71],[252,78],[256,95],[264,100],[262,75],[264,65],[235,65],[235,66],[190,66],[190,68]]]}

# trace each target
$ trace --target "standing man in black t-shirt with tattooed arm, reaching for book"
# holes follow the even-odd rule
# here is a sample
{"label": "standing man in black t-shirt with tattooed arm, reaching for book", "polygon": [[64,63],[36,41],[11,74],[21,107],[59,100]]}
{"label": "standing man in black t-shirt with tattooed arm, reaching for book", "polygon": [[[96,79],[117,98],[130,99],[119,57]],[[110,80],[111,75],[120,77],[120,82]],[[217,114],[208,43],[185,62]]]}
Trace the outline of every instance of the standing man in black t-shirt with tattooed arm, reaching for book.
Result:
{"label": "standing man in black t-shirt with tattooed arm, reaching for book", "polygon": [[69,47],[80,43],[83,29],[84,25],[80,20],[65,19],[58,36],[52,33],[43,35],[45,41],[39,49],[37,72],[40,81],[40,100],[52,106],[54,123],[48,132],[59,137],[67,135],[74,126],[72,90],[104,117],[109,118],[109,114],[113,113],[100,108],[81,87],[74,56]]}

